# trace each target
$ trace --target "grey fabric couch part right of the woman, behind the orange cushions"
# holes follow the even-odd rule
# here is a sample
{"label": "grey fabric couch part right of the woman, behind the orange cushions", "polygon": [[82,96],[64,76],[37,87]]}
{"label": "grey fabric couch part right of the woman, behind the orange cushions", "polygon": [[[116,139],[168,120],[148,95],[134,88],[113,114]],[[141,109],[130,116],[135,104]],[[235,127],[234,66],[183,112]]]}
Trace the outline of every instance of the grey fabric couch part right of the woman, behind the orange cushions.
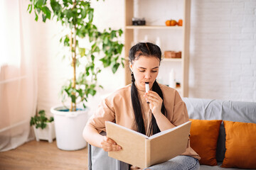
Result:
{"label": "grey fabric couch part right of the woman, behind the orange cushions", "polygon": [[[233,122],[256,123],[255,102],[221,101],[202,98],[183,98],[183,101],[186,103],[188,116],[192,119],[229,120]],[[200,169],[224,169],[220,167],[224,157],[225,129],[223,123],[221,123],[216,150],[218,166],[201,165]]]}

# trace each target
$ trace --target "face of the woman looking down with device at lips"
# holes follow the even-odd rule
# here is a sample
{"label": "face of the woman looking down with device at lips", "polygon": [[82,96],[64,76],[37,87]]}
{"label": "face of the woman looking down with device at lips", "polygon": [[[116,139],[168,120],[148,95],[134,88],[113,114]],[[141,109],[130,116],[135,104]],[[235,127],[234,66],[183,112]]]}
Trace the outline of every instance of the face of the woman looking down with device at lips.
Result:
{"label": "face of the woman looking down with device at lips", "polygon": [[133,64],[130,63],[137,89],[145,91],[145,82],[149,82],[149,88],[152,88],[159,73],[159,64],[158,58],[143,55],[138,60],[134,60]]}

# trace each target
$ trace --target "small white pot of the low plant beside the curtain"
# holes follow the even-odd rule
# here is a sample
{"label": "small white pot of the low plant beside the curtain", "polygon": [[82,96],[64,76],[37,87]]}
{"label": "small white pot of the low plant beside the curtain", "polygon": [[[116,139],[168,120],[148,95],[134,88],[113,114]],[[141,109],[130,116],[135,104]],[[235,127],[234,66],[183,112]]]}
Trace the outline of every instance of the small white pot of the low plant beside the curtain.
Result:
{"label": "small white pot of the low plant beside the curtain", "polygon": [[36,125],[33,125],[33,130],[36,135],[36,141],[48,140],[48,142],[53,142],[55,139],[54,122],[46,123],[46,128],[43,130],[41,128],[36,128]]}

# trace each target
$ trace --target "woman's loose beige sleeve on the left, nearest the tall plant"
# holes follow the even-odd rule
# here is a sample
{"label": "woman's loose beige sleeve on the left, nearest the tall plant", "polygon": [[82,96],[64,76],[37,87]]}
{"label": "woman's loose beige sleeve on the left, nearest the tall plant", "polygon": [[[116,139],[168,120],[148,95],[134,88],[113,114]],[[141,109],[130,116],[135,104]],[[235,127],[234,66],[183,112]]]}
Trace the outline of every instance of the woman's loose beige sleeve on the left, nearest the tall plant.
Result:
{"label": "woman's loose beige sleeve on the left, nearest the tall plant", "polygon": [[107,99],[104,99],[98,106],[97,111],[87,121],[87,125],[95,128],[100,133],[106,131],[105,121],[114,122],[114,120],[114,107],[110,105],[110,102],[108,102]]}

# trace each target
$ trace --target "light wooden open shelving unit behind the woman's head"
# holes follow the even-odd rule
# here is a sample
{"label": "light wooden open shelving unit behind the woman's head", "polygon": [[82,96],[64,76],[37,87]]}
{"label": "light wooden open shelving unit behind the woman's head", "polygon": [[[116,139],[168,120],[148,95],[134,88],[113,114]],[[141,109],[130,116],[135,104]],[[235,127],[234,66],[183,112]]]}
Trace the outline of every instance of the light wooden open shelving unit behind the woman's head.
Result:
{"label": "light wooden open shelving unit behind the woman's head", "polygon": [[[166,6],[166,3],[172,3],[175,7],[175,10],[169,9],[169,6]],[[143,6],[142,10],[140,10],[140,6],[138,6],[138,4]],[[157,7],[160,8],[159,12],[157,11]],[[181,96],[187,97],[191,0],[183,0],[183,2],[179,0],[124,0],[124,8],[124,55],[126,59],[125,84],[131,83],[128,56],[129,49],[132,47],[134,40],[142,40],[142,35],[149,35],[151,38],[156,38],[159,36],[161,37],[161,44],[163,44],[163,47],[161,47],[163,55],[165,50],[181,51],[181,58],[164,58],[164,60],[161,61],[159,77],[165,80],[165,82],[161,83],[166,84],[166,81],[168,81],[169,78],[166,72],[169,72],[170,68],[174,68],[176,72],[176,80],[181,84],[180,87],[177,87],[176,89],[181,94]],[[139,9],[139,12],[141,13],[146,11],[145,9],[149,8],[148,13],[143,14],[144,16],[148,16],[148,18],[146,18],[146,26],[132,26],[134,8]],[[170,16],[166,15],[169,14],[169,11],[176,11],[176,8],[182,13],[180,18],[183,20],[183,26],[165,26],[164,21],[170,19]],[[160,13],[159,15],[161,16],[159,16],[159,18],[162,20],[148,23],[147,21],[154,17],[154,13]],[[174,13],[171,13],[171,15],[174,15]],[[154,19],[156,20],[156,18]],[[175,19],[177,20],[178,18]],[[177,40],[180,42],[179,44],[177,43],[178,45],[175,43]],[[149,42],[152,41],[153,40],[149,40]],[[163,72],[161,72],[161,68],[163,68]]]}

